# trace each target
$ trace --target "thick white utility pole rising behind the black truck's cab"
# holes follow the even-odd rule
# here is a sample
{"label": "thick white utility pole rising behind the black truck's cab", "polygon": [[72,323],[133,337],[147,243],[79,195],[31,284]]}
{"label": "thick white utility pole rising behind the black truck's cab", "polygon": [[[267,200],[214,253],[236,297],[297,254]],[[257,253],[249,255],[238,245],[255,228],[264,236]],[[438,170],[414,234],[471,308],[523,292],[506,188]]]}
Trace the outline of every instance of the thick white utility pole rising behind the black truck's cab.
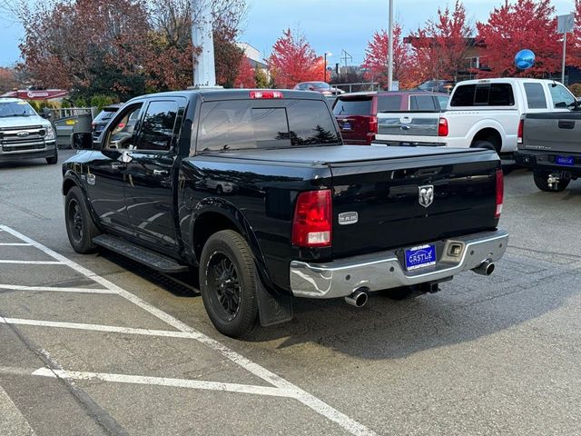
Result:
{"label": "thick white utility pole rising behind the black truck's cab", "polygon": [[193,57],[193,87],[216,86],[212,4],[209,0],[192,0],[192,44],[202,53]]}

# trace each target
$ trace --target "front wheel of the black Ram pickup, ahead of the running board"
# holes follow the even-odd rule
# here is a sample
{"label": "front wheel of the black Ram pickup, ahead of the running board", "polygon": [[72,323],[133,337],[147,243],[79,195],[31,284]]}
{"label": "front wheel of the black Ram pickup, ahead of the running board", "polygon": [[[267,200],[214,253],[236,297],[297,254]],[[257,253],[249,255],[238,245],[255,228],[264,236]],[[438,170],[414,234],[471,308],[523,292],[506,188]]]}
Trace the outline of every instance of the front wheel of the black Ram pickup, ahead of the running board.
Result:
{"label": "front wheel of the black Ram pickup, ahead of the running board", "polygon": [[97,246],[94,236],[99,234],[91,213],[84,201],[84,195],[78,186],[74,186],[64,199],[64,222],[69,242],[76,253],[94,253]]}

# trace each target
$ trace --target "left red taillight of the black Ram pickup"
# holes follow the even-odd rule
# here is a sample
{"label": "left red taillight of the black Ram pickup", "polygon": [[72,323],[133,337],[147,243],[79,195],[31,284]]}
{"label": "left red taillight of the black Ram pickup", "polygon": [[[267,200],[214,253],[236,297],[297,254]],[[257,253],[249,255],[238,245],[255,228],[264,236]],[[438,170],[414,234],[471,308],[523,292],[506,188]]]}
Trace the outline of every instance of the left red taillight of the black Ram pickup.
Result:
{"label": "left red taillight of the black Ram pickup", "polygon": [[329,247],[332,230],[330,189],[300,193],[292,219],[292,244]]}

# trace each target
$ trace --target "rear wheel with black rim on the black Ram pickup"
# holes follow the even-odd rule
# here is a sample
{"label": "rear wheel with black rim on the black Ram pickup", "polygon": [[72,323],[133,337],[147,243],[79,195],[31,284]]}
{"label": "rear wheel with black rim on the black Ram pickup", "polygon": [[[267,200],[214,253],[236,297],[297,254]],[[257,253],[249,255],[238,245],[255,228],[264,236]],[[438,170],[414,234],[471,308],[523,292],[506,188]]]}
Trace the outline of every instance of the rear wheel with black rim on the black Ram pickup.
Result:
{"label": "rear wheel with black rim on the black Ram pickup", "polygon": [[202,249],[200,290],[216,330],[232,338],[258,323],[258,280],[251,248],[240,233],[214,233]]}

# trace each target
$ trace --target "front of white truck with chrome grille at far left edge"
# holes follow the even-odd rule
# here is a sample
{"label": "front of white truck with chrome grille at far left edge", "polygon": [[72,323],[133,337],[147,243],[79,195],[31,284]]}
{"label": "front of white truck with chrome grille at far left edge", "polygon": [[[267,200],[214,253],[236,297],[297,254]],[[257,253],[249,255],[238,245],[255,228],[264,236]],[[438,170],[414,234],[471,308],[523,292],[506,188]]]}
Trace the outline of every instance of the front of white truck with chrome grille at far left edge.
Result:
{"label": "front of white truck with chrome grille at far left edge", "polygon": [[25,100],[0,97],[0,162],[38,158],[58,161],[53,124]]}

